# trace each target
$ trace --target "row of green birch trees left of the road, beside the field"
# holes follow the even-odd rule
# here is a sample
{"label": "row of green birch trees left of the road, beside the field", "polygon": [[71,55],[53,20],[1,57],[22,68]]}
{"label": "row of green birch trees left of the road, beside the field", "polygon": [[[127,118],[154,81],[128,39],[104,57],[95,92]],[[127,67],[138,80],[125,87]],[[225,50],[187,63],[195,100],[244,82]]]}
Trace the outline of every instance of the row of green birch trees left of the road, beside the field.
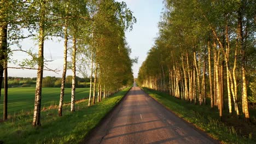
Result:
{"label": "row of green birch trees left of the road, beside the field", "polygon": [[[89,106],[107,98],[133,82],[131,50],[125,31],[136,22],[125,2],[114,0],[2,0],[0,7],[0,83],[4,79],[4,116],[7,119],[8,62],[16,51],[27,53],[17,68],[36,69],[37,81],[33,126],[40,125],[43,71],[47,67],[44,43],[62,39],[63,73],[60,91],[59,116],[62,116],[67,69],[72,69],[71,111],[75,111],[76,74],[90,71]],[[22,49],[22,39],[36,39],[38,52]],[[15,49],[10,49],[10,46]],[[68,62],[71,55],[71,62]],[[90,65],[90,66],[89,66]],[[5,72],[4,72],[5,71]],[[3,73],[4,72],[4,73]],[[4,76],[3,76],[4,74]],[[6,75],[5,75],[6,74]],[[92,78],[94,77],[94,81]],[[0,86],[1,88],[1,86]],[[1,89],[0,89],[1,92]],[[86,96],[86,95],[85,95]]]}

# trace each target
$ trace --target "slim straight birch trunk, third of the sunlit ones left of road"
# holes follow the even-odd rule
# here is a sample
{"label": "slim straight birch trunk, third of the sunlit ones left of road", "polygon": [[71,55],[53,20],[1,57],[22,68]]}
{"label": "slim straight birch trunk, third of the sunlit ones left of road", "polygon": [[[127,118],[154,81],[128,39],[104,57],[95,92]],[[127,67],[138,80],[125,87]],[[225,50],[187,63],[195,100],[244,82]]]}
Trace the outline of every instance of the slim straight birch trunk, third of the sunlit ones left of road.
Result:
{"label": "slim straight birch trunk, third of the sunlit ones left of road", "polygon": [[75,61],[76,61],[76,55],[77,55],[77,39],[75,38],[75,35],[73,35],[73,53],[72,53],[72,88],[71,88],[71,111],[75,111],[74,105],[75,105]]}

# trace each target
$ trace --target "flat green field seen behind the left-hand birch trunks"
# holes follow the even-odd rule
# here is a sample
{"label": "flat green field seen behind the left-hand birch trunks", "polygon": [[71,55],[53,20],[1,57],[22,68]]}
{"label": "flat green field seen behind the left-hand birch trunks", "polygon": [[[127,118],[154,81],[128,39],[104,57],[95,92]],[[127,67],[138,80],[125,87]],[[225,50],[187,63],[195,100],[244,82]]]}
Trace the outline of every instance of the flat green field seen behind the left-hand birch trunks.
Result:
{"label": "flat green field seen behind the left-hand birch trunks", "polygon": [[[32,111],[34,107],[35,87],[16,87],[8,89],[8,115],[22,111]],[[89,97],[90,88],[76,88],[75,99]],[[3,89],[0,101],[0,116],[3,115]],[[59,105],[60,88],[42,88],[42,109],[50,105]],[[71,88],[65,88],[64,103],[71,101]]]}

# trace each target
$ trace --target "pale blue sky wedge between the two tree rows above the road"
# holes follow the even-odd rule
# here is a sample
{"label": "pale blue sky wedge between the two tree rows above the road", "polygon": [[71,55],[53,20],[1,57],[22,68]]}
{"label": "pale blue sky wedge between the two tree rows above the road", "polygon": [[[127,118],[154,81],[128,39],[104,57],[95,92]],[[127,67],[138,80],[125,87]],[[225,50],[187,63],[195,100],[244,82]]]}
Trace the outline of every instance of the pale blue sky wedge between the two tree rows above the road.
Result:
{"label": "pale blue sky wedge between the two tree rows above the road", "polygon": [[124,2],[137,19],[133,30],[126,32],[127,42],[132,49],[131,57],[138,57],[138,63],[132,68],[133,75],[137,77],[139,67],[146,59],[148,50],[154,44],[164,5],[161,0],[126,0]]}

